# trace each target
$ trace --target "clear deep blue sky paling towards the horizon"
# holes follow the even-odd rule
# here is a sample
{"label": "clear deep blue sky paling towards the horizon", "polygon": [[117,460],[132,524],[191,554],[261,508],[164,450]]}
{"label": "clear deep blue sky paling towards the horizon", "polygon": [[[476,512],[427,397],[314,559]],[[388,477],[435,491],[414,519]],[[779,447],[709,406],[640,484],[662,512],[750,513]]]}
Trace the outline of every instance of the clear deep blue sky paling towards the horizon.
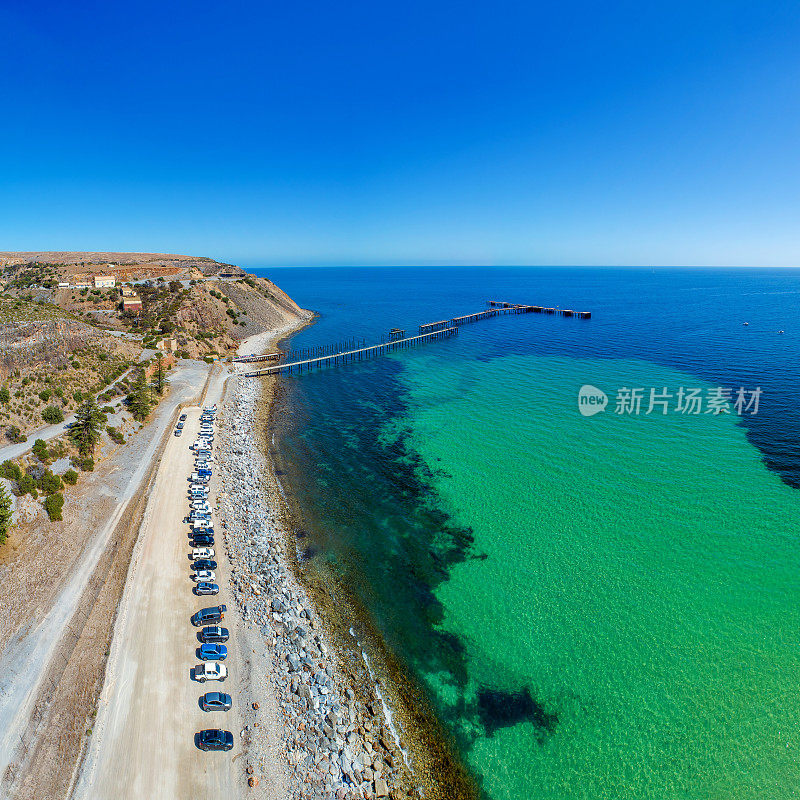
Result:
{"label": "clear deep blue sky paling towards the horizon", "polygon": [[800,265],[797,2],[0,6],[0,249]]}

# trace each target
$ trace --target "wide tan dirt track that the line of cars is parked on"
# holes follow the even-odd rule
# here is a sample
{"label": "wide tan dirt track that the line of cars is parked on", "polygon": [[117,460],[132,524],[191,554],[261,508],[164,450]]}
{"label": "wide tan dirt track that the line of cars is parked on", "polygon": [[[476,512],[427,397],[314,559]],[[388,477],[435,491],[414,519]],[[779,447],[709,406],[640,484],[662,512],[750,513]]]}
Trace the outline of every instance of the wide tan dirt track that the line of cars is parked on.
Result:
{"label": "wide tan dirt track that the line of cars is parked on", "polygon": [[[209,387],[216,402],[222,381]],[[229,677],[199,684],[190,669],[199,663],[197,629],[189,618],[199,608],[226,603],[228,569],[216,524],[217,597],[198,598],[189,579],[187,478],[193,455],[189,445],[199,428],[198,408],[186,409],[184,434],[167,444],[134,551],[114,631],[106,681],[89,749],[73,793],[76,800],[217,800],[244,794],[240,752],[239,648],[228,644]],[[214,487],[212,485],[212,501]],[[223,624],[228,624],[226,619]],[[232,634],[234,631],[232,630]],[[235,635],[235,634],[234,634]],[[224,690],[234,708],[204,713],[198,699],[205,691]],[[222,727],[234,733],[234,750],[203,753],[194,733]]]}

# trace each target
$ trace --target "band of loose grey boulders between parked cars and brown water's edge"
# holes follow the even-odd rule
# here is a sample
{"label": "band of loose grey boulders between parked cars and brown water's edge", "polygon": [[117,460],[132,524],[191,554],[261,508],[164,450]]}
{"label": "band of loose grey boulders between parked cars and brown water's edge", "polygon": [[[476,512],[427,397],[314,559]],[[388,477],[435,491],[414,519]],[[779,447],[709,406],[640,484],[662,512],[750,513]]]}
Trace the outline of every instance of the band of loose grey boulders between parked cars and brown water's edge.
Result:
{"label": "band of loose grey boulders between parked cars and brown water's edge", "polygon": [[[266,391],[274,391],[270,386]],[[292,800],[420,797],[391,714],[363,663],[337,653],[287,553],[280,490],[259,446],[262,385],[232,377],[218,415],[219,518],[231,590],[266,648]],[[252,704],[257,707],[257,703]],[[387,719],[388,718],[388,719]],[[247,719],[247,717],[246,717]],[[250,764],[267,758],[251,726]],[[249,784],[256,786],[252,773]]]}

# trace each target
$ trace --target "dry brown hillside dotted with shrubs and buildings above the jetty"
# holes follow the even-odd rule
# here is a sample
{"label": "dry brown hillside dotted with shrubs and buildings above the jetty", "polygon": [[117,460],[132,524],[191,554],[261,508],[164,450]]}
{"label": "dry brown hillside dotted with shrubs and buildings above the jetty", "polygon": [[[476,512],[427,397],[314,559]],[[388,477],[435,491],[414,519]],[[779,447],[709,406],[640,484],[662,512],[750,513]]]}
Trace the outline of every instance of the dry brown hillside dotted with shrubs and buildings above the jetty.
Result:
{"label": "dry brown hillside dotted with shrubs and buildings above the jetty", "polygon": [[[0,428],[7,439],[41,426],[54,404],[71,413],[145,350],[209,361],[231,355],[248,336],[310,317],[272,281],[212,259],[31,252],[0,253],[0,264]],[[76,285],[95,275],[114,275],[116,285]],[[125,308],[132,298],[136,307]],[[118,390],[125,388],[122,382]]]}

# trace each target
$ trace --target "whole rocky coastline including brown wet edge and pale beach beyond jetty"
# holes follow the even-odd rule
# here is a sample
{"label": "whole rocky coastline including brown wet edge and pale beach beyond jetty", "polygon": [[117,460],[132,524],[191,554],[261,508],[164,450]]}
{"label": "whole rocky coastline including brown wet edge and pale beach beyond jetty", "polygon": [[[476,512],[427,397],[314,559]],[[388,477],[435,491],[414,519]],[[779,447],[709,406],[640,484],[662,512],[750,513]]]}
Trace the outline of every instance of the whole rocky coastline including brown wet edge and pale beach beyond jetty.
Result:
{"label": "whole rocky coastline including brown wet edge and pale beach beyond jetty", "polygon": [[[252,337],[240,354],[265,352],[306,324]],[[219,415],[219,510],[232,594],[251,638],[266,645],[289,796],[473,800],[479,791],[448,734],[346,587],[300,569],[272,452],[278,390],[276,378],[231,376]],[[244,735],[250,769],[269,748],[252,727]]]}

